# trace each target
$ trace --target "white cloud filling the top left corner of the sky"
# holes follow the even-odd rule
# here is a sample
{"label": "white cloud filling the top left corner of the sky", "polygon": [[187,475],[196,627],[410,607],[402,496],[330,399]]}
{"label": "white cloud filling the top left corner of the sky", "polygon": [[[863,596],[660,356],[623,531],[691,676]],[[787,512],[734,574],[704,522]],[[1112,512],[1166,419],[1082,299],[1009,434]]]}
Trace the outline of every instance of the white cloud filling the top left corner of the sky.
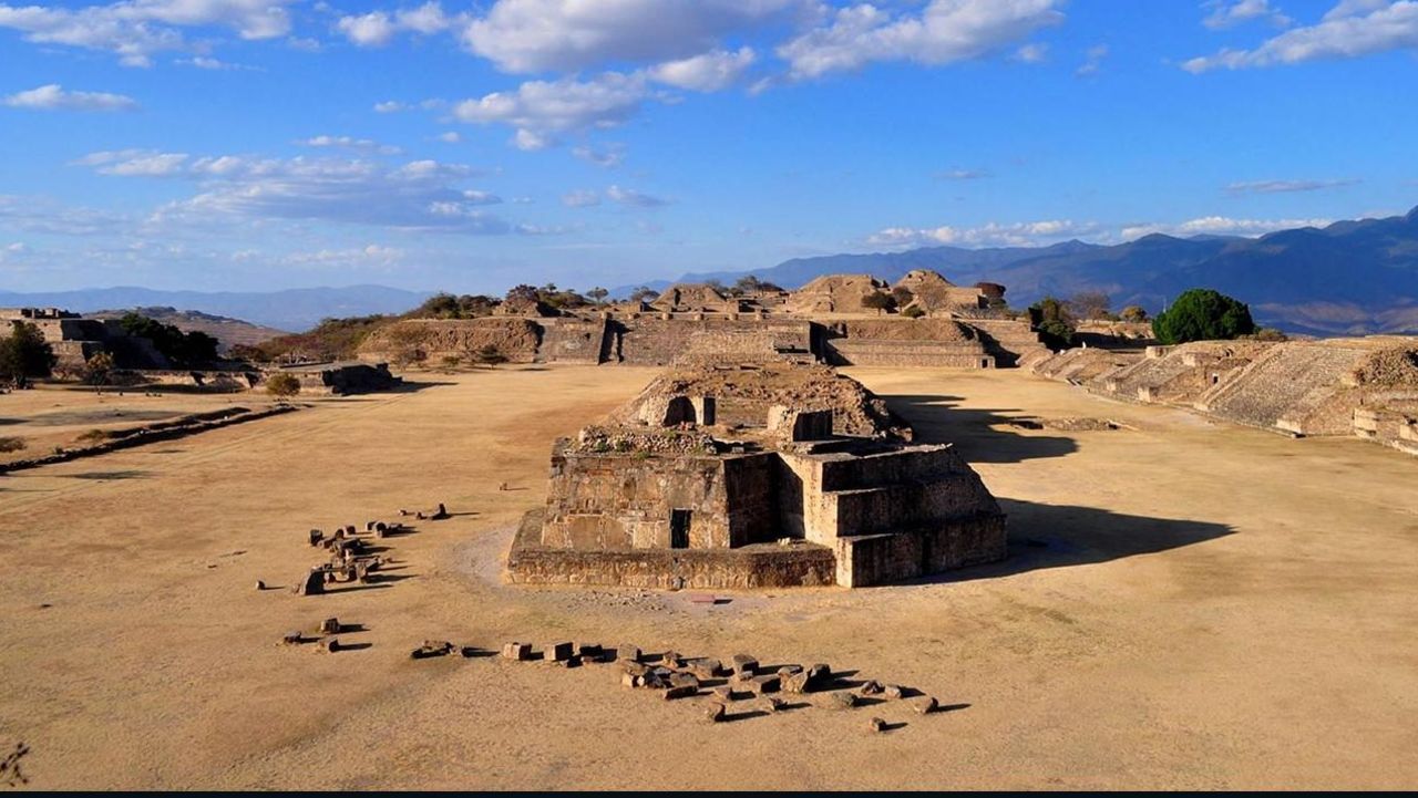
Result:
{"label": "white cloud filling the top left corner of the sky", "polygon": [[182,28],[220,27],[245,40],[289,33],[285,6],[295,0],[123,0],[106,6],[52,9],[0,6],[0,28],[26,41],[113,52],[129,67],[152,65],[162,51],[189,50]]}

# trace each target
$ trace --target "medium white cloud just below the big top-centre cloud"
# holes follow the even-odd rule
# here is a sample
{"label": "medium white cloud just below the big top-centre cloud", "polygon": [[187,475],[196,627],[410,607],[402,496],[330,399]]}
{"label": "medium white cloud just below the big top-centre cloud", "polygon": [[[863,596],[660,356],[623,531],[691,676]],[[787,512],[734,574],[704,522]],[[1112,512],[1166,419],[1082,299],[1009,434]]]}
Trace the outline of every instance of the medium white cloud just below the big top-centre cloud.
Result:
{"label": "medium white cloud just below the big top-centre cloud", "polygon": [[630,119],[649,96],[640,74],[604,72],[588,81],[527,81],[513,92],[493,92],[455,103],[462,122],[516,128],[520,149],[543,149],[559,135],[614,128]]}

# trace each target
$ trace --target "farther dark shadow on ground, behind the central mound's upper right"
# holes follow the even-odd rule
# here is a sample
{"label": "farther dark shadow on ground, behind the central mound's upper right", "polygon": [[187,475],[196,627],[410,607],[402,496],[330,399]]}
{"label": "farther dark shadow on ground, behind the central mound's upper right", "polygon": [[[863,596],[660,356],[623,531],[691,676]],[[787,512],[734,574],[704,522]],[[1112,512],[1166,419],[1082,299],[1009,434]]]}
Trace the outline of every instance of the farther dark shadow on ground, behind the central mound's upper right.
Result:
{"label": "farther dark shadow on ground, behind the central mound's upper right", "polygon": [[1021,462],[1061,458],[1078,451],[1073,438],[1022,435],[997,429],[1021,418],[1034,418],[1017,408],[961,408],[951,395],[883,395],[892,412],[910,422],[920,444],[954,444],[966,462]]}

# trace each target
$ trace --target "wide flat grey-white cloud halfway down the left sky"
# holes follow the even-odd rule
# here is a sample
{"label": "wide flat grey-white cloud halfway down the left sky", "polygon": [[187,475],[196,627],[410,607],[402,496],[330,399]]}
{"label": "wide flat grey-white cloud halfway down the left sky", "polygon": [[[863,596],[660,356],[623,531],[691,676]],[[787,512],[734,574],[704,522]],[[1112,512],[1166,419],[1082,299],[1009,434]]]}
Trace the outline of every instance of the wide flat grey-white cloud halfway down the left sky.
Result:
{"label": "wide flat grey-white cloud halfway down the left sky", "polygon": [[461,184],[478,173],[462,164],[415,160],[387,166],[363,159],[92,153],[78,163],[122,177],[184,177],[197,194],[160,208],[155,223],[214,217],[322,220],[400,230],[508,232],[484,206],[502,200]]}

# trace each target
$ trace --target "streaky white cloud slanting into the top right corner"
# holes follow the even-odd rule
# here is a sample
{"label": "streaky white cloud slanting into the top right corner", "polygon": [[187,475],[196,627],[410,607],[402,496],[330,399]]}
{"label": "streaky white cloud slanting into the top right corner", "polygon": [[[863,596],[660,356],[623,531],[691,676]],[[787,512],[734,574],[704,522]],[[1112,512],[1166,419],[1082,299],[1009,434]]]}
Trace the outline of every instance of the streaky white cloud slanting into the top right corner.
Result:
{"label": "streaky white cloud slanting into the top right corner", "polygon": [[1346,0],[1319,24],[1288,30],[1255,50],[1224,48],[1183,62],[1193,74],[1300,64],[1319,58],[1358,58],[1390,50],[1418,48],[1418,1]]}

